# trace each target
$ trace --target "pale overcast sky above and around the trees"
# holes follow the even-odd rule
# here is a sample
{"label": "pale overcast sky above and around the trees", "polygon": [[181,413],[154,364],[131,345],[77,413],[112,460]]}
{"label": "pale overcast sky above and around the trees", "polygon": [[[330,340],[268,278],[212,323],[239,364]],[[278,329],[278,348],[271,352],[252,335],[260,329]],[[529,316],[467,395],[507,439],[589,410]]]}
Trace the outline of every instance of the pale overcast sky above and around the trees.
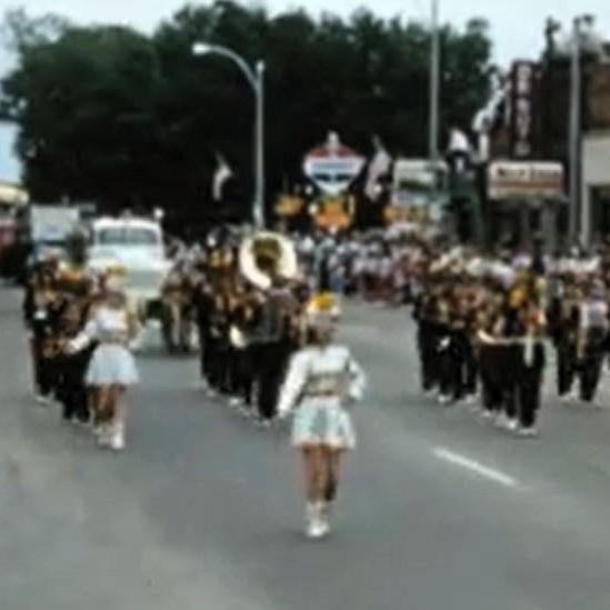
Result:
{"label": "pale overcast sky above and around the trees", "polygon": [[[56,12],[79,23],[114,22],[151,31],[166,17],[182,6],[182,0],[0,0],[0,12],[16,6],[30,14]],[[382,17],[427,20],[430,0],[268,0],[272,12],[304,7],[313,14],[329,10],[347,16],[358,7],[368,6]],[[491,23],[496,60],[508,64],[512,59],[538,57],[542,47],[544,20],[552,14],[568,24],[577,13],[590,12],[598,18],[599,29],[610,39],[610,0],[440,0],[441,20],[462,26],[472,17]],[[10,57],[0,51],[0,70],[10,64]],[[18,168],[10,158],[10,136],[0,129],[0,179],[17,179]]]}

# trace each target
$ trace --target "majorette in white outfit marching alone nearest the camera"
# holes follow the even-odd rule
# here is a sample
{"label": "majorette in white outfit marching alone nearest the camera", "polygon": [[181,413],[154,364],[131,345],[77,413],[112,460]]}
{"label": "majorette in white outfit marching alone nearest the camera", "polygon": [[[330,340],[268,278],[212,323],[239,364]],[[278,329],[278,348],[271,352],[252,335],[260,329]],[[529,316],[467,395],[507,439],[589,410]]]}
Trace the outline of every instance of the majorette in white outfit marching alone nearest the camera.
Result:
{"label": "majorette in white outfit marching alone nearest the camera", "polygon": [[364,374],[350,350],[334,343],[332,296],[316,298],[307,312],[309,346],[292,357],[280,393],[278,416],[294,413],[292,444],[302,454],[307,534],[330,532],[341,456],[356,447],[349,407],[362,398]]}

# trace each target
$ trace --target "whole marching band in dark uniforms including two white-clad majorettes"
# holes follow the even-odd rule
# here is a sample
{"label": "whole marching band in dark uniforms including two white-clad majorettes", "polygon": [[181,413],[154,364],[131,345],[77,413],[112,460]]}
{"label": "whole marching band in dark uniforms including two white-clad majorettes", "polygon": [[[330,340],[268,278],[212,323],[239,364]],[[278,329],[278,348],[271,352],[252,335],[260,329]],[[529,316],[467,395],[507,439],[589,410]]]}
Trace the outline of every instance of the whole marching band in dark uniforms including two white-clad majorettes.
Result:
{"label": "whole marching band in dark uniforms including two white-clad majorettes", "polygon": [[[340,457],[356,444],[349,407],[364,388],[350,350],[334,342],[339,296],[330,288],[409,302],[422,392],[442,406],[478,401],[481,418],[521,437],[539,433],[548,361],[562,400],[597,404],[609,347],[603,252],[484,256],[438,236],[373,241],[324,242],[312,253],[311,238],[214,239],[180,259],[162,289],[168,350],[197,346],[209,396],[227,397],[261,428],[293,414],[313,539],[330,531]],[[378,277],[372,260],[382,263]],[[37,401],[59,401],[63,418],[90,424],[100,447],[122,450],[140,327],[124,269],[94,277],[51,258],[32,270],[23,313]]]}

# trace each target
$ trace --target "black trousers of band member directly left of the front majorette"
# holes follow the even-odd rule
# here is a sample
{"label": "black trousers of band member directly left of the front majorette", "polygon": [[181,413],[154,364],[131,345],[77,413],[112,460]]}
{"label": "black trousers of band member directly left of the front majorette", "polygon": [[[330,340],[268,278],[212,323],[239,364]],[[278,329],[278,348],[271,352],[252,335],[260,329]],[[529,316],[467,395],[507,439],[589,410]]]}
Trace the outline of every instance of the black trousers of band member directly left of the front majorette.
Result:
{"label": "black trousers of band member directly left of the front majorette", "polygon": [[286,370],[286,343],[281,340],[258,343],[252,354],[259,414],[262,419],[270,420],[276,416],[280,386]]}

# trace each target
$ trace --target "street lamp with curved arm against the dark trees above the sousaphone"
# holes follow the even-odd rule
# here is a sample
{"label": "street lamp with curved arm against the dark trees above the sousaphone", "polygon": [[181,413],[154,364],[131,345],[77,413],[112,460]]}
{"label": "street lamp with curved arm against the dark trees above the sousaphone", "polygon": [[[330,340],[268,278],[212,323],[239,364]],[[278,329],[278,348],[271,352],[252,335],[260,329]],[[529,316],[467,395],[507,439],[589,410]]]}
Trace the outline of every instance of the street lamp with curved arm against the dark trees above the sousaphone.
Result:
{"label": "street lamp with curved arm against the dark trees above the sousaphone", "polygon": [[196,42],[192,47],[196,56],[216,54],[231,60],[243,73],[254,92],[254,198],[252,202],[252,221],[258,229],[264,227],[264,61],[259,60],[252,69],[238,53],[219,44]]}

